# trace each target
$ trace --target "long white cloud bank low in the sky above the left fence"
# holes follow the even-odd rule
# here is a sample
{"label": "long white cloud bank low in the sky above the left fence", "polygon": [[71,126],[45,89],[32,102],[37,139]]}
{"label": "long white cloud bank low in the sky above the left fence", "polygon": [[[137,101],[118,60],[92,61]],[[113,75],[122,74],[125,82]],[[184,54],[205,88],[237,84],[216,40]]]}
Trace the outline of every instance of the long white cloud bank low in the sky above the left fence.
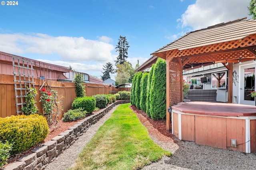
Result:
{"label": "long white cloud bank low in the sky above the left fence", "polygon": [[53,37],[42,33],[0,34],[0,51],[19,55],[23,53],[57,54],[62,60],[74,61],[114,60],[115,56],[111,53],[114,46],[106,43],[111,39],[106,36],[100,39],[102,41],[84,37]]}

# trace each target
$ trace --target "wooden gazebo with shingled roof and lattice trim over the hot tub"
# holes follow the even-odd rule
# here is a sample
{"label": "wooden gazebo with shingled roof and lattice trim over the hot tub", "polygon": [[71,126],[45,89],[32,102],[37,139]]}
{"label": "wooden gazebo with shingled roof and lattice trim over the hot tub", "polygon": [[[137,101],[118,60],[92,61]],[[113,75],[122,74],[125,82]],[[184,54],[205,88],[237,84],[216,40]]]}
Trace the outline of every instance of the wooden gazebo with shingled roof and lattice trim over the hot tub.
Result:
{"label": "wooden gazebo with shingled roof and lattice trim over the hot tub", "polygon": [[[168,108],[182,102],[182,72],[222,63],[232,77],[233,64],[256,59],[256,20],[241,18],[187,33],[153,52],[136,71],[145,70],[157,57],[166,60],[166,130],[170,129]],[[232,78],[228,79],[232,84]],[[228,86],[228,103],[232,103]]]}

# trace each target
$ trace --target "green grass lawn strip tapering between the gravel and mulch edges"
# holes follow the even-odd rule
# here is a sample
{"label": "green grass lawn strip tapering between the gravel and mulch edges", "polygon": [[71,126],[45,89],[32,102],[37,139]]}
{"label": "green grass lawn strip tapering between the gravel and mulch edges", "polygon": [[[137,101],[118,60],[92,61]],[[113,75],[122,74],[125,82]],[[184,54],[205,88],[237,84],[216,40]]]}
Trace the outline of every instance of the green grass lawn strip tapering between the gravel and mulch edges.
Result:
{"label": "green grass lawn strip tapering between the gravel and mulch edges", "polygon": [[117,107],[79,154],[72,170],[142,168],[171,152],[160,148],[148,136],[130,104]]}

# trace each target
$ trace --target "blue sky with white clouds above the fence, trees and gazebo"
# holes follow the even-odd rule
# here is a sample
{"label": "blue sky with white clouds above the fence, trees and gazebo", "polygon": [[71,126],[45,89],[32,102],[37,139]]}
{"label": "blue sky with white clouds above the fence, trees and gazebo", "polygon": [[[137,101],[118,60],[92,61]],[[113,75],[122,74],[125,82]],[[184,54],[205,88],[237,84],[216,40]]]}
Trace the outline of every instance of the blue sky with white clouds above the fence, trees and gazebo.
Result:
{"label": "blue sky with white clouds above the fence, trees and gazebo", "polygon": [[[4,2],[7,1],[4,0]],[[0,5],[0,51],[99,77],[118,37],[135,67],[189,31],[248,17],[250,0],[18,0]],[[112,75],[115,79],[115,74]]]}

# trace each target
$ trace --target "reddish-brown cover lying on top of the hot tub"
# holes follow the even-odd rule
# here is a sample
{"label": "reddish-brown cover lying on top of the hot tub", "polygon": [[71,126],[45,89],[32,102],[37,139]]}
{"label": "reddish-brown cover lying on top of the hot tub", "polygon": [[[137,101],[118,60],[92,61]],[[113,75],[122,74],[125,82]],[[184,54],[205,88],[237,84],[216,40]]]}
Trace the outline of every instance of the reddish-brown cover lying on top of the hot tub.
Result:
{"label": "reddish-brown cover lying on top of the hot tub", "polygon": [[256,106],[231,103],[180,102],[172,106],[172,109],[200,115],[256,116]]}

